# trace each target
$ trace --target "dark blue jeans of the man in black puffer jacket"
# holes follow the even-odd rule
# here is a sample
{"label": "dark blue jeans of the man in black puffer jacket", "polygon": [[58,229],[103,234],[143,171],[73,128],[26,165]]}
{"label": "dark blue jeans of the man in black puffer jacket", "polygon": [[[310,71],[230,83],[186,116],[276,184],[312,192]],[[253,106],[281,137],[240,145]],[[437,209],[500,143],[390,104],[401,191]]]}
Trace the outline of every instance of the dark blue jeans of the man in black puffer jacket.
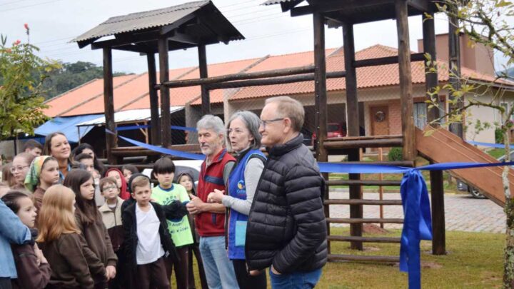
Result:
{"label": "dark blue jeans of the man in black puffer jacket", "polygon": [[321,268],[311,272],[293,272],[276,275],[271,272],[271,288],[273,289],[311,289],[321,278]]}

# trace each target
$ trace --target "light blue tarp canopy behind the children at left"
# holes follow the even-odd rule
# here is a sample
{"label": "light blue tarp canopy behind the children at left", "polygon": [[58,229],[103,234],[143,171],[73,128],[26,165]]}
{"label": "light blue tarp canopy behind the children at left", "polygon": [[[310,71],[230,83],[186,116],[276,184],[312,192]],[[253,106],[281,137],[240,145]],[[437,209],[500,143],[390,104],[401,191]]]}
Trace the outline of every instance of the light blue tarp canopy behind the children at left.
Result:
{"label": "light blue tarp canopy behind the children at left", "polygon": [[64,133],[66,135],[68,141],[70,141],[71,143],[78,143],[79,139],[82,136],[85,136],[86,133],[91,131],[91,128],[93,128],[93,126],[81,126],[79,136],[79,129],[75,125],[83,123],[84,121],[91,121],[95,118],[99,118],[99,116],[103,115],[88,114],[85,116],[52,118],[50,121],[46,121],[46,123],[43,123],[41,126],[39,126],[39,128],[36,128],[34,133],[39,134],[40,136],[48,136],[50,133],[60,131],[61,133]]}

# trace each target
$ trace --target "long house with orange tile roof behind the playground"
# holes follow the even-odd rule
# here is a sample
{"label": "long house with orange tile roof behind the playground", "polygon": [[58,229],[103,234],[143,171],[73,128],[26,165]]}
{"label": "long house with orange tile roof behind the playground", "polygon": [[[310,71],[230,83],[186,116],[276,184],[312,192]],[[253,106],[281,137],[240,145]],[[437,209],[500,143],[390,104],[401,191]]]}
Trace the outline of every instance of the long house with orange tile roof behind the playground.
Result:
{"label": "long house with orange tile roof behind the playground", "polygon": [[[440,36],[438,36],[440,37]],[[444,39],[444,36],[442,36]],[[441,41],[443,42],[443,41]],[[444,49],[448,46],[441,46]],[[470,48],[471,49],[471,48]],[[483,61],[490,51],[468,51],[465,47],[463,52],[462,74],[476,82],[492,82],[495,77],[491,75],[493,70],[491,61]],[[473,53],[472,53],[473,52]],[[396,56],[398,51],[391,47],[375,45],[357,51],[356,60],[375,59],[387,56]],[[446,51],[438,51],[438,55],[448,55]],[[313,64],[313,51],[305,51],[294,54],[278,56],[263,56],[256,59],[243,59],[208,66],[209,76],[221,76],[229,73],[268,71],[273,69],[285,69]],[[424,126],[426,103],[425,101],[425,69],[423,61],[412,62],[414,118],[417,126]],[[448,83],[448,65],[444,57],[438,58],[439,83]],[[470,69],[469,67],[473,67]],[[326,50],[327,71],[341,71],[344,68],[343,49]],[[198,78],[198,67],[182,69],[171,69],[170,79],[191,79]],[[45,110],[48,116],[80,116],[84,114],[104,113],[103,103],[103,81],[97,79],[89,81],[71,91],[51,98],[46,104]],[[399,76],[398,64],[383,66],[370,66],[357,69],[358,99],[360,112],[361,131],[366,135],[389,135],[401,133],[400,122],[400,100],[399,100]],[[514,85],[505,81],[498,83],[498,86],[507,87],[507,99],[514,101]],[[494,88],[493,88],[494,89]],[[327,80],[328,91],[328,123],[346,123],[346,84],[344,78],[331,78]],[[251,110],[260,113],[266,98],[271,96],[288,95],[302,103],[306,109],[306,124],[304,133],[307,135],[315,131],[314,128],[314,83],[303,81],[297,83],[276,84],[269,86],[251,86],[245,88],[216,89],[211,91],[211,111],[213,114],[228,118],[231,113],[238,110]],[[493,97],[493,91],[481,96],[483,101]],[[201,91],[199,86],[172,88],[170,91],[171,106],[183,106],[180,113],[172,114],[172,125],[190,126],[196,125],[201,118]],[[442,90],[440,100],[448,109],[448,91]],[[510,101],[505,101],[510,102]],[[114,78],[114,109],[115,111],[129,111],[133,109],[149,108],[148,98],[148,73],[138,75],[119,76]],[[470,108],[473,118],[480,118],[482,121],[500,121],[498,113],[490,108]],[[151,124],[151,123],[150,123]],[[183,132],[176,131],[172,135],[178,135],[178,140],[173,143],[183,143]],[[129,137],[138,137],[138,133],[132,132]],[[308,138],[309,136],[307,136]],[[87,141],[87,136],[84,141]],[[494,129],[482,131],[475,135],[473,128],[468,130],[468,138],[475,141],[493,142]],[[195,137],[190,137],[194,141]]]}

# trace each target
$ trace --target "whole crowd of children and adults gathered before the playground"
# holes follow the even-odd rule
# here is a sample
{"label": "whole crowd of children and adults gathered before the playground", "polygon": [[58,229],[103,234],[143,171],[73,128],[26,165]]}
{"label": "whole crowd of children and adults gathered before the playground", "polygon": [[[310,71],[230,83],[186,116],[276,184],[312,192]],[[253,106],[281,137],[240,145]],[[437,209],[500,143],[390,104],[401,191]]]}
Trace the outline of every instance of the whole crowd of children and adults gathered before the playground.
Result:
{"label": "whole crowd of children and adults gathered before the playground", "polygon": [[[205,161],[104,166],[63,133],[2,166],[0,289],[313,288],[327,259],[325,183],[303,145],[305,112],[268,98],[261,117],[198,121]],[[267,156],[261,151],[267,148]],[[230,153],[229,153],[230,151]],[[156,183],[153,186],[153,183]]]}

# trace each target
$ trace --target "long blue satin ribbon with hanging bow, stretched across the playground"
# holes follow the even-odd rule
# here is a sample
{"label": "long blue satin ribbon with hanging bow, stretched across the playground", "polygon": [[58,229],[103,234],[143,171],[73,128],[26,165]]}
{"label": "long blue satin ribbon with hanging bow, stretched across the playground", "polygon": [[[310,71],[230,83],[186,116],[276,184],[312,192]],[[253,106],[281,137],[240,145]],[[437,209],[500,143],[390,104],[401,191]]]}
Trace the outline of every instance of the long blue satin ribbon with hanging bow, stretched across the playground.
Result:
{"label": "long blue satin ribbon with hanging bow, stretched across the playground", "polygon": [[[108,133],[113,133],[106,129]],[[203,161],[205,156],[197,153],[175,151],[124,136],[119,138],[151,151],[181,158]],[[403,173],[400,195],[403,206],[403,229],[400,242],[400,271],[408,273],[409,288],[421,287],[420,240],[432,240],[432,218],[425,180],[420,171],[443,171],[488,166],[513,166],[514,161],[504,163],[435,163],[417,168],[401,166],[368,165],[366,163],[318,163],[321,173]]]}

